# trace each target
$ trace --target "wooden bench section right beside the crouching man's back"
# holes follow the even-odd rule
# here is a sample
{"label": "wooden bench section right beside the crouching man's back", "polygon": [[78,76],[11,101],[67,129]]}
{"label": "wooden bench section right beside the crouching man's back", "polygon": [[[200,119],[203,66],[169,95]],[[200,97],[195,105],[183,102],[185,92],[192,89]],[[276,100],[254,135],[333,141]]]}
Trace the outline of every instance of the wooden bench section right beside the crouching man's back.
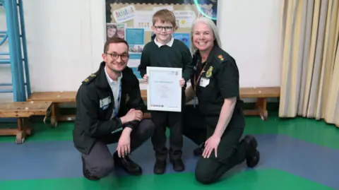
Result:
{"label": "wooden bench section right beside the crouching man's back", "polygon": [[28,102],[31,101],[49,101],[52,102],[51,107],[51,124],[57,126],[58,121],[73,121],[75,115],[61,115],[59,112],[59,106],[63,103],[75,103],[76,102],[76,92],[74,91],[65,91],[65,92],[36,92],[32,93],[28,97]]}

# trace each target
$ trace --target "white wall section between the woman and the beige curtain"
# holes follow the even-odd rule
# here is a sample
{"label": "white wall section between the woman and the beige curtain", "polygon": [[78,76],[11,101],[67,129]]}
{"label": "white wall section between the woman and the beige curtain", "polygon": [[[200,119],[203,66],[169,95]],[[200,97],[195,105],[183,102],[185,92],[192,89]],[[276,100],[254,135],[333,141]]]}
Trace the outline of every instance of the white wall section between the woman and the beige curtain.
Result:
{"label": "white wall section between the woman and the beige curtain", "polygon": [[280,1],[218,3],[222,47],[237,61],[240,86],[280,86]]}

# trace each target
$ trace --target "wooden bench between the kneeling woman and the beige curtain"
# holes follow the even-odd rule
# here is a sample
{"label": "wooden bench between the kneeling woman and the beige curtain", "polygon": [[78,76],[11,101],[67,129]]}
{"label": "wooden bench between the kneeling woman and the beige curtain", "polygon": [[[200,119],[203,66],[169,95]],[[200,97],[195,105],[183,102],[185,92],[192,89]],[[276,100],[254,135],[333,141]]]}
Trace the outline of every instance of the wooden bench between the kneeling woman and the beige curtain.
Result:
{"label": "wooden bench between the kneeling woman and the beige curtain", "polygon": [[245,115],[258,115],[264,121],[268,118],[267,99],[280,97],[280,87],[240,88],[240,98],[257,98],[256,109],[244,110]]}

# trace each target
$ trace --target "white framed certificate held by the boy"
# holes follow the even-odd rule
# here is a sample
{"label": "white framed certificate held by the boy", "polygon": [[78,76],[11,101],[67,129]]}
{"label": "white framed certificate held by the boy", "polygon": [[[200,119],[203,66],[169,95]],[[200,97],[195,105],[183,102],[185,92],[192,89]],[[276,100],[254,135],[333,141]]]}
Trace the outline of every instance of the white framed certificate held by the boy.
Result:
{"label": "white framed certificate held by the boy", "polygon": [[147,75],[148,110],[181,112],[182,88],[179,81],[182,69],[148,66]]}

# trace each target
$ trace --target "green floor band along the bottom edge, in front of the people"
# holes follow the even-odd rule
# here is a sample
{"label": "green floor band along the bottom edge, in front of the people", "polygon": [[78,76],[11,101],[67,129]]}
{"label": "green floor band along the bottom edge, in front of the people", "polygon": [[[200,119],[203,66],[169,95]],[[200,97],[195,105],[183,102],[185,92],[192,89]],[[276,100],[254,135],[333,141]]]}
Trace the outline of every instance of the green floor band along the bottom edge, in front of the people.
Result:
{"label": "green floor band along the bottom edge, in front of the people", "polygon": [[232,190],[328,190],[331,189],[316,182],[297,177],[280,170],[249,170],[232,174],[222,181],[212,184],[199,184],[192,173],[143,175],[141,177],[106,177],[98,182],[85,178],[40,179],[0,182],[1,190],[179,190],[179,189],[232,189]]}

